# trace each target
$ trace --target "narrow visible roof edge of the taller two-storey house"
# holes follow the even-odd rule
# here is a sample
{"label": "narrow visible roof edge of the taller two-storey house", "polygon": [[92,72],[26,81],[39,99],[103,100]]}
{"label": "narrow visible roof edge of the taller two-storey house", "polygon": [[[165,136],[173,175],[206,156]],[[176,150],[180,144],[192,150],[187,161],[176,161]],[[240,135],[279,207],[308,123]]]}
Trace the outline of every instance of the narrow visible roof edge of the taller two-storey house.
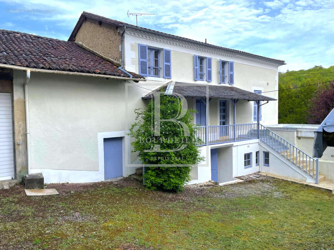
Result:
{"label": "narrow visible roof edge of the taller two-storey house", "polygon": [[218,49],[223,49],[223,50],[227,50],[227,51],[231,51],[231,52],[236,52],[236,53],[239,53],[239,54],[244,54],[244,55],[249,55],[249,56],[261,58],[261,59],[264,59],[264,60],[267,60],[267,61],[272,61],[272,62],[279,63],[280,65],[285,64],[285,61],[283,61],[283,60],[278,60],[278,59],[274,59],[274,58],[260,56],[260,55],[244,52],[244,51],[241,51],[241,50],[229,49],[229,48],[225,48],[225,47],[221,47],[221,46],[217,46],[217,45],[213,45],[213,44],[209,44],[209,43],[196,41],[196,40],[189,39],[189,38],[186,38],[186,37],[176,36],[176,35],[164,33],[164,32],[157,31],[157,30],[147,29],[147,28],[144,28],[144,27],[135,26],[133,24],[124,23],[124,22],[121,22],[121,21],[117,21],[117,20],[114,20],[114,19],[107,18],[107,17],[95,15],[93,13],[89,13],[89,12],[86,12],[86,11],[82,12],[78,22],[76,23],[71,35],[68,38],[68,41],[73,41],[73,38],[75,37],[75,35],[76,35],[77,31],[79,30],[83,20],[86,17],[97,20],[97,21],[101,21],[101,22],[104,22],[104,23],[108,23],[108,24],[111,24],[111,25],[115,25],[115,26],[118,26],[118,27],[128,26],[128,27],[132,27],[132,28],[136,28],[136,29],[141,29],[141,30],[146,30],[146,31],[149,31],[149,32],[158,33],[158,34],[165,35],[165,36],[174,37],[174,38],[177,38],[177,39],[187,40],[187,41],[194,42],[194,43],[200,43],[200,44],[205,45],[205,46],[210,46],[210,47],[214,47],[214,48],[218,48]]}

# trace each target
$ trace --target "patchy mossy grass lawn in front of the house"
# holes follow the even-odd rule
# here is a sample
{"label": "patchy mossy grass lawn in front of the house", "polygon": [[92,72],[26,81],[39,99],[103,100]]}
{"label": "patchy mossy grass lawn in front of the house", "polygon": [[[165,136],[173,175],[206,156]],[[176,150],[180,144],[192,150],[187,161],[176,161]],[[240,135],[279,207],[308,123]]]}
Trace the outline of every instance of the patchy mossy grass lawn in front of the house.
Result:
{"label": "patchy mossy grass lawn in front of the house", "polygon": [[269,177],[147,191],[136,181],[0,190],[0,249],[333,249],[334,196]]}

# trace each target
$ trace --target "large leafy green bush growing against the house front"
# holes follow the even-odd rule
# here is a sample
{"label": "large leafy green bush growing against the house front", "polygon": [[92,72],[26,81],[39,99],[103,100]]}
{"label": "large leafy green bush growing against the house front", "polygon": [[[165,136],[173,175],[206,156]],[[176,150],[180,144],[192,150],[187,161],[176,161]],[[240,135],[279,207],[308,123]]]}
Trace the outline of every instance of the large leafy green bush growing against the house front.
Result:
{"label": "large leafy green bush growing against the house front", "polygon": [[[190,171],[193,164],[204,160],[200,156],[200,139],[195,133],[192,112],[187,110],[186,114],[179,118],[189,129],[190,135],[185,135],[184,129],[179,124],[171,121],[160,123],[160,136],[153,133],[152,121],[154,121],[155,101],[150,100],[146,109],[136,109],[135,122],[130,128],[129,135],[134,139],[131,143],[132,152],[137,152],[144,164],[155,166],[145,167],[145,186],[150,190],[169,190],[180,192],[183,185],[190,180]],[[160,119],[172,119],[176,117],[183,103],[179,98],[171,95],[160,95]],[[160,145],[163,152],[150,151],[155,145]],[[185,148],[173,151],[181,145]],[[159,165],[171,164],[171,166]]]}

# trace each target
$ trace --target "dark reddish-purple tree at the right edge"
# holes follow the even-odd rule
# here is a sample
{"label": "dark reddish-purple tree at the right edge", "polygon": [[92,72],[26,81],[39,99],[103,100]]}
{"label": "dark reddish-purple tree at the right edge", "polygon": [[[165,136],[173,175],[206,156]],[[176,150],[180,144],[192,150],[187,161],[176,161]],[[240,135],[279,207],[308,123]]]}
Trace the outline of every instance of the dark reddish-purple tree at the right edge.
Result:
{"label": "dark reddish-purple tree at the right edge", "polygon": [[308,107],[309,124],[320,124],[334,108],[334,80],[329,84],[319,85]]}

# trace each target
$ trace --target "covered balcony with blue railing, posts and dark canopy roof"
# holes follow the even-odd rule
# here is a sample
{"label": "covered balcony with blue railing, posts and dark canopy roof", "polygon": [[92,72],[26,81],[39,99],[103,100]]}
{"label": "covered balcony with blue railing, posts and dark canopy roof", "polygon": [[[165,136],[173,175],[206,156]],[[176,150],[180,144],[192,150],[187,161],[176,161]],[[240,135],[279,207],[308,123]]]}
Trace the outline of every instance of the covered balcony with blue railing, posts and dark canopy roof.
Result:
{"label": "covered balcony with blue railing, posts and dark canopy roof", "polygon": [[[213,85],[174,81],[164,84],[142,98],[144,100],[151,99],[158,94],[183,98],[189,108],[196,109],[197,113],[194,121],[195,124],[199,124],[196,126],[196,134],[202,140],[197,146],[259,139],[259,115],[257,115],[256,123],[245,123],[256,118],[254,116],[253,119],[252,112],[245,113],[244,110],[249,110],[249,102],[254,102],[257,106],[254,114],[260,114],[260,106],[269,101],[276,101],[272,97],[224,84]],[[262,103],[264,101],[266,103]],[[238,114],[240,114],[238,118],[236,118],[237,106]],[[209,116],[209,114],[211,115]],[[236,124],[236,120],[240,124]]]}

